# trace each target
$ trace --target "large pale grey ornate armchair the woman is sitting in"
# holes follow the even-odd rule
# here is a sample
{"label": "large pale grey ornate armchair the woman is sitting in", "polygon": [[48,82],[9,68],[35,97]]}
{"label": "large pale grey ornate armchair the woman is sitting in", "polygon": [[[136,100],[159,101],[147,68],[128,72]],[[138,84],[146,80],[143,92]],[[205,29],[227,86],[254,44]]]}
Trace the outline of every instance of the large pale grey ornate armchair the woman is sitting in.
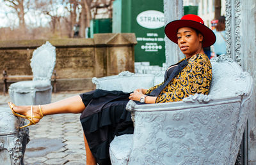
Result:
{"label": "large pale grey ornate armchair the woman is sitting in", "polygon": [[[111,142],[112,164],[234,164],[252,108],[252,77],[228,57],[211,63],[209,96],[196,94],[162,104],[129,101],[126,108],[134,117],[134,134],[117,136]],[[127,84],[132,76],[130,80],[124,76]],[[122,82],[119,79],[122,76],[112,84]],[[104,87],[100,78],[93,81]],[[121,86],[125,87],[116,85]]]}

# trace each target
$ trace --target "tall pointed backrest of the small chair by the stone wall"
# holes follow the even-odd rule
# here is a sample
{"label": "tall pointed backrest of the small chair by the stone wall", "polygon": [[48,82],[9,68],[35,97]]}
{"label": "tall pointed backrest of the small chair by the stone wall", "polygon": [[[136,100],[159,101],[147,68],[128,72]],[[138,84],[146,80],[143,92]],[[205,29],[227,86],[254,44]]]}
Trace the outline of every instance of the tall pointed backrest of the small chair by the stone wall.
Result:
{"label": "tall pointed backrest of the small chair by the stone wall", "polygon": [[33,80],[46,80],[51,82],[52,71],[56,63],[55,47],[46,41],[44,45],[36,48],[30,62]]}

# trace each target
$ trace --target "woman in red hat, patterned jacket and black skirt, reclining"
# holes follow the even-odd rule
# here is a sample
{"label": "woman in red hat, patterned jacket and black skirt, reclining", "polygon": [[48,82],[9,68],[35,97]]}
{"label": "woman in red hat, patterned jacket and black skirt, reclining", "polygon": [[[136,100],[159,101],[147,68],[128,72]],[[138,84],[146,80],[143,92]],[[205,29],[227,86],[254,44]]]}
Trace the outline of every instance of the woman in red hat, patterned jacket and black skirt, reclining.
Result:
{"label": "woman in red hat, patterned jacket and black skirt, reclining", "polygon": [[95,160],[98,164],[111,164],[109,143],[114,136],[133,133],[131,114],[125,110],[130,99],[138,104],[166,103],[182,101],[191,94],[209,92],[211,62],[203,48],[215,42],[214,33],[196,15],[185,15],[180,20],[170,22],[164,32],[178,44],[186,57],[166,70],[163,83],[131,93],[93,90],[42,106],[15,106],[9,103],[13,114],[28,119],[29,126],[39,122],[44,115],[81,113],[85,141],[88,141],[86,155],[91,161],[87,164],[96,164]]}

